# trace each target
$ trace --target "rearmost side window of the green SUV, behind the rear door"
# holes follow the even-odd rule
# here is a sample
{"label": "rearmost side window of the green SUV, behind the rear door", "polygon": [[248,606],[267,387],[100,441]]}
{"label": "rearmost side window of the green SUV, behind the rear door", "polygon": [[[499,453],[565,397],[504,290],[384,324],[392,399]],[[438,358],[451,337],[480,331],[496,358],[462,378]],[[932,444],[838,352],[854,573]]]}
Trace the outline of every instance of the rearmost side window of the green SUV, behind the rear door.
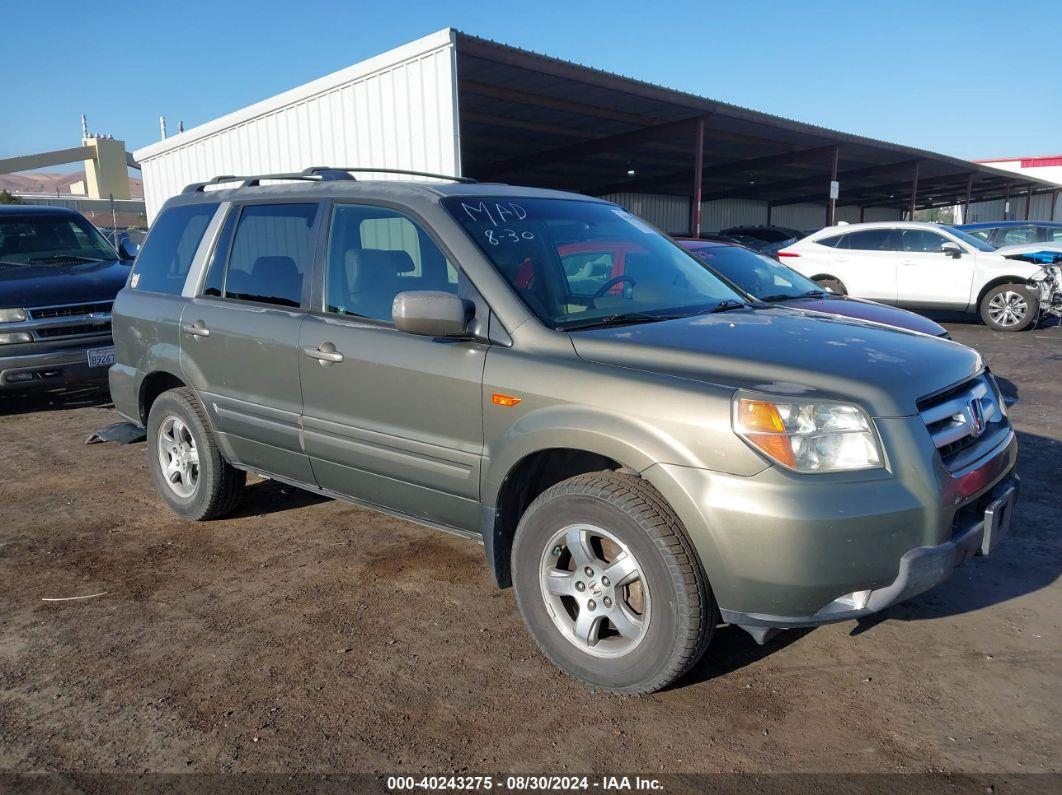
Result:
{"label": "rearmost side window of the green SUV, behind the rear door", "polygon": [[164,211],[136,258],[130,287],[181,295],[195,249],[217,210],[217,204],[191,204]]}

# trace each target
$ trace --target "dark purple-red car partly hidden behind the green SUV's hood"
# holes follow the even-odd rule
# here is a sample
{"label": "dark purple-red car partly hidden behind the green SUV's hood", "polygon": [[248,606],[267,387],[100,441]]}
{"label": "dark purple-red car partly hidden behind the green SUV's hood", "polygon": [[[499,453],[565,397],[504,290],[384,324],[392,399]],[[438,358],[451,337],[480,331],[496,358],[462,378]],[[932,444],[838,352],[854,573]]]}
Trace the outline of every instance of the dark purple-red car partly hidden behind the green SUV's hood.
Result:
{"label": "dark purple-red car partly hidden behind the green SUV's hood", "polygon": [[740,245],[719,239],[687,239],[679,240],[678,243],[709,269],[761,301],[948,338],[947,329],[927,317],[906,309],[826,292],[791,267]]}

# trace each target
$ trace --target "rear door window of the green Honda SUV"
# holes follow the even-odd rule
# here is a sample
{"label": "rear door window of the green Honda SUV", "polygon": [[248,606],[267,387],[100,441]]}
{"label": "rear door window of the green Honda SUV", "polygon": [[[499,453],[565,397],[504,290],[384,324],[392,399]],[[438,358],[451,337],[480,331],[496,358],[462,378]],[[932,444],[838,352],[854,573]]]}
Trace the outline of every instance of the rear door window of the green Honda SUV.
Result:
{"label": "rear door window of the green Honda SUV", "polygon": [[226,298],[298,307],[313,262],[315,204],[249,205],[240,213],[224,280]]}

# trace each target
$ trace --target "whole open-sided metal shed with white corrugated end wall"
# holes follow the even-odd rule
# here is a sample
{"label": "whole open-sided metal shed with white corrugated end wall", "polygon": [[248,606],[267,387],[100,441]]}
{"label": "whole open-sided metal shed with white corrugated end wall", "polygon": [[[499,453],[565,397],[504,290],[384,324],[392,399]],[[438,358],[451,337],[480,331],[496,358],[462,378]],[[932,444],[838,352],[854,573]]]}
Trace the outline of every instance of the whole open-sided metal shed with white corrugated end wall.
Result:
{"label": "whole open-sided metal shed with white corrugated end wall", "polygon": [[[675,234],[735,223],[809,228],[1023,194],[1049,194],[1035,206],[1054,215],[1059,190],[453,29],[135,156],[150,218],[188,183],[322,166],[455,173],[609,196]],[[828,200],[832,180],[840,186],[836,202]]]}

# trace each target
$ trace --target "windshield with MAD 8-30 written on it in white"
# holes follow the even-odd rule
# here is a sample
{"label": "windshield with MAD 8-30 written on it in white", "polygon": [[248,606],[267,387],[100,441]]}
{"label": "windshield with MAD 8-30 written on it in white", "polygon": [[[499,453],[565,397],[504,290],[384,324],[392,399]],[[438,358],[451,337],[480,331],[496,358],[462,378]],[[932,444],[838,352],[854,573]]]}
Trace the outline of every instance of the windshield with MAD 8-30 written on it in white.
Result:
{"label": "windshield with MAD 8-30 written on it in white", "polygon": [[478,196],[444,204],[551,328],[644,323],[743,305],[689,254],[615,205]]}

